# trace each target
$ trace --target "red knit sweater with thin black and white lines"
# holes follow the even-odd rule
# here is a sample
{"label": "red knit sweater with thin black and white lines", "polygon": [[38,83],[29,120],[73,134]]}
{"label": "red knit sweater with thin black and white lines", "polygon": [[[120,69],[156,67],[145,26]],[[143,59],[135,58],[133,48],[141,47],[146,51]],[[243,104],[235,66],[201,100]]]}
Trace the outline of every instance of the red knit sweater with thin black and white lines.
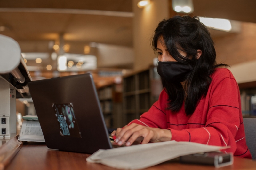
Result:
{"label": "red knit sweater with thin black and white lines", "polygon": [[184,102],[177,113],[166,110],[168,95],[163,90],[159,100],[148,112],[142,114],[140,120],[133,120],[129,124],[169,129],[172,140],[175,141],[231,146],[224,152],[251,159],[245,142],[240,92],[236,80],[224,68],[216,69],[211,78],[206,97],[199,101],[192,115],[185,114]]}

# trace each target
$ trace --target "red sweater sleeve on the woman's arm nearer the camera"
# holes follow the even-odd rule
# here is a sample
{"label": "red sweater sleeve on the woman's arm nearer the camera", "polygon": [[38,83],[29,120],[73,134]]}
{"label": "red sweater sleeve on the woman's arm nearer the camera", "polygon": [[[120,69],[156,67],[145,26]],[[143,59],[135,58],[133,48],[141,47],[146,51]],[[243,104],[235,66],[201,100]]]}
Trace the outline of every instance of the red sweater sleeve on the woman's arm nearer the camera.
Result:
{"label": "red sweater sleeve on the woman's arm nearer the camera", "polygon": [[240,125],[239,90],[236,80],[224,78],[209,94],[209,110],[202,128],[170,129],[172,140],[231,146],[225,152],[236,151],[235,136]]}

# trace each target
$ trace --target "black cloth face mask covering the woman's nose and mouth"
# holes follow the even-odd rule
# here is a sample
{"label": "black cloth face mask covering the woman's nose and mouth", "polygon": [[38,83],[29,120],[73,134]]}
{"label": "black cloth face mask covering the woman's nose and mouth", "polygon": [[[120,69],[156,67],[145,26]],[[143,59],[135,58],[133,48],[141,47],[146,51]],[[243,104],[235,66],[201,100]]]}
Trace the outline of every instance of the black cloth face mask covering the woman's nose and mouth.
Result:
{"label": "black cloth face mask covering the woman's nose and mouth", "polygon": [[157,66],[158,74],[170,83],[185,81],[186,76],[191,70],[193,70],[191,65],[173,61],[159,61]]}

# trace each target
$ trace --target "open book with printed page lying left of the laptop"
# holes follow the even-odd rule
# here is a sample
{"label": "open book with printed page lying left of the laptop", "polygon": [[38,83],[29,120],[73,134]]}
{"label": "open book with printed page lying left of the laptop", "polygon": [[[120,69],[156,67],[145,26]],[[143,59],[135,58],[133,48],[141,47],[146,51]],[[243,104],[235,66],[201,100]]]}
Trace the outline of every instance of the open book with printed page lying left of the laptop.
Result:
{"label": "open book with printed page lying left of the laptop", "polygon": [[23,120],[18,140],[45,142],[43,132],[39,122]]}

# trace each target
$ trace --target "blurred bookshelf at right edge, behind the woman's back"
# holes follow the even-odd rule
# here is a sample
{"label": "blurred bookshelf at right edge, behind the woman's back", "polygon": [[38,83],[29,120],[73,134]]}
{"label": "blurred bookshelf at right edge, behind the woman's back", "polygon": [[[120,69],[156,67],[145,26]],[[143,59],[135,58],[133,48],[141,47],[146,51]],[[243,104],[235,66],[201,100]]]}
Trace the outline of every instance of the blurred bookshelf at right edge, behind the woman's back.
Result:
{"label": "blurred bookshelf at right edge, behind the woman's back", "polygon": [[256,81],[238,84],[243,117],[256,118]]}

